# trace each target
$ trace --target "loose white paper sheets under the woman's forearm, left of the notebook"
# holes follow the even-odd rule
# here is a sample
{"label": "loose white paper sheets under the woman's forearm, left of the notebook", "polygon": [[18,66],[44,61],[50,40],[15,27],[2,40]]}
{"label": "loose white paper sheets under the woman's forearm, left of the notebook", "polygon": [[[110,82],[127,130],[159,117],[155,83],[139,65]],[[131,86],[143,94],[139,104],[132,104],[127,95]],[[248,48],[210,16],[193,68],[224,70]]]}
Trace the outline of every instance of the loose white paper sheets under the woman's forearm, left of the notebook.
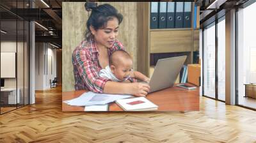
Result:
{"label": "loose white paper sheets under the woman's forearm, left of the notebook", "polygon": [[106,105],[111,102],[115,102],[116,100],[130,98],[131,95],[128,94],[100,94],[87,92],[81,94],[81,96],[74,98],[72,100],[64,101],[68,105],[74,106],[91,106],[91,105]]}

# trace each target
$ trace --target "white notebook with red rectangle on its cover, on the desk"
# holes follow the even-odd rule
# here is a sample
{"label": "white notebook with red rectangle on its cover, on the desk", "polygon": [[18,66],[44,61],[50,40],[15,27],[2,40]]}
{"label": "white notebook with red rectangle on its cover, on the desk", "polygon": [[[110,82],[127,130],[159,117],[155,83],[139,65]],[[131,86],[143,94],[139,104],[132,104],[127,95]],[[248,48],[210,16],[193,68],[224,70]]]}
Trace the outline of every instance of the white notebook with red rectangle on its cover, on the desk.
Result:
{"label": "white notebook with red rectangle on its cover, on the desk", "polygon": [[126,111],[157,110],[158,106],[145,97],[116,100],[116,103]]}

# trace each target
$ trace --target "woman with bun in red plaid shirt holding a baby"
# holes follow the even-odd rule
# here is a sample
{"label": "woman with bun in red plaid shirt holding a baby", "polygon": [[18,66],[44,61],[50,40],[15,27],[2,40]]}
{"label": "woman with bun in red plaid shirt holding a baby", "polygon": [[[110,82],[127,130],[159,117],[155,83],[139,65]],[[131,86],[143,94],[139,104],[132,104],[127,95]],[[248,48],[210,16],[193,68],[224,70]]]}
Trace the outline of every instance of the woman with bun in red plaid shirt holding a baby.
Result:
{"label": "woman with bun in red plaid shirt holding a baby", "polygon": [[[113,82],[99,77],[99,71],[109,64],[109,56],[115,50],[125,50],[116,40],[118,26],[123,16],[110,4],[86,3],[86,11],[92,11],[86,23],[86,41],[76,47],[72,55],[75,88],[95,93],[147,95],[150,87],[138,82]],[[141,73],[142,74],[142,73]],[[145,76],[145,75],[144,75]],[[145,76],[145,79],[148,78]],[[131,79],[134,81],[134,79]]]}

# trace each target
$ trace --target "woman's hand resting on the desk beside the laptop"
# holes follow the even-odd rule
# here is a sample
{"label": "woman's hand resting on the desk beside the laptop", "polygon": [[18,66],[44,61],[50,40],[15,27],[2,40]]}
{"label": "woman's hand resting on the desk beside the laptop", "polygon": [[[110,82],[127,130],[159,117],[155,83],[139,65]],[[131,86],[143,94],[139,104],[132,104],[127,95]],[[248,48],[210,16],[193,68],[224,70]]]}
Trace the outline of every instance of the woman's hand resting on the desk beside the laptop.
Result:
{"label": "woman's hand resting on the desk beside the laptop", "polygon": [[140,82],[132,82],[131,83],[131,94],[134,96],[146,96],[149,92],[150,87],[147,84],[143,84]]}

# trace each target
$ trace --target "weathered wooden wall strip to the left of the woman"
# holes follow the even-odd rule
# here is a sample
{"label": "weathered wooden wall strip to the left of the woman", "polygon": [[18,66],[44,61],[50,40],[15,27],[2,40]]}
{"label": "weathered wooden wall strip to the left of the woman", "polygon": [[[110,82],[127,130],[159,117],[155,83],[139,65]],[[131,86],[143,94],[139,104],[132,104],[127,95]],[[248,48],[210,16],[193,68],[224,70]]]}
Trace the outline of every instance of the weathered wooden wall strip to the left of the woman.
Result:
{"label": "weathered wooden wall strip to the left of the woman", "polygon": [[62,90],[74,89],[74,74],[71,56],[73,50],[84,39],[87,13],[84,3],[62,3]]}

